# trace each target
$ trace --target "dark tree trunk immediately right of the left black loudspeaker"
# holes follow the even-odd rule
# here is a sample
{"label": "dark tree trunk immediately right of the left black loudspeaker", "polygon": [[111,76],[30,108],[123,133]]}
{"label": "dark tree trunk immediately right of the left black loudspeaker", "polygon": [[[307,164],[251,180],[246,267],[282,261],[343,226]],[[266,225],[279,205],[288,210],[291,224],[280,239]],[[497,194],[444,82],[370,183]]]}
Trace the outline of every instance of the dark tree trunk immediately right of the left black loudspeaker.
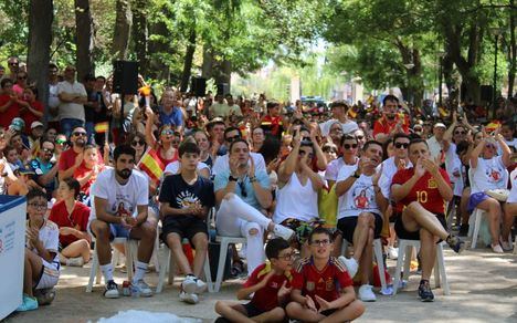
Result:
{"label": "dark tree trunk immediately right of the left black loudspeaker", "polygon": [[133,0],[133,39],[135,40],[135,53],[139,63],[140,74],[147,75],[149,60],[147,58],[147,1]]}

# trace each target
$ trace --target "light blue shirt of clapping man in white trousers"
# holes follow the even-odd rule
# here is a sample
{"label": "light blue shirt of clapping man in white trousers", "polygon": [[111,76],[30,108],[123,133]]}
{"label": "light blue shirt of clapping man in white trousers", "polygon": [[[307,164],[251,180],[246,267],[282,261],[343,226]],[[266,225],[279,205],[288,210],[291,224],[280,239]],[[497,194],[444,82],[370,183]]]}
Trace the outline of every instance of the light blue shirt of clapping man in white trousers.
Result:
{"label": "light blue shirt of clapping man in white trousers", "polygon": [[[230,177],[230,169],[225,169],[221,173],[215,175],[215,179],[213,181],[213,189],[218,191],[223,189],[228,185],[228,178]],[[270,189],[270,176],[264,170],[258,170],[255,174],[256,180],[258,184],[266,189]],[[240,178],[235,185],[235,195],[238,195],[243,201],[247,205],[254,207],[255,209],[262,209],[261,204],[256,199],[255,190],[253,189],[253,185],[250,181],[250,177],[246,175],[244,178]]]}

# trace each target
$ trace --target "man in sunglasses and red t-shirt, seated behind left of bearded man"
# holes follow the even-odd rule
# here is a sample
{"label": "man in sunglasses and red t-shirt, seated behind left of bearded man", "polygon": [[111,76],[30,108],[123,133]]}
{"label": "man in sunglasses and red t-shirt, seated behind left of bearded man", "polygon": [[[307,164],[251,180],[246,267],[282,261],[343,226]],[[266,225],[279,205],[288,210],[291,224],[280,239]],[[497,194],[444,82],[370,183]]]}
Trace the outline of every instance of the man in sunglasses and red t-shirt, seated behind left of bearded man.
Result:
{"label": "man in sunglasses and red t-shirt, seated behind left of bearded man", "polygon": [[[70,135],[70,142],[72,146],[61,153],[59,162],[59,178],[63,180],[65,178],[72,177],[77,167],[83,163],[83,149],[86,145],[86,131],[82,126],[74,127]],[[98,162],[103,163],[103,157],[101,154],[97,154]]]}

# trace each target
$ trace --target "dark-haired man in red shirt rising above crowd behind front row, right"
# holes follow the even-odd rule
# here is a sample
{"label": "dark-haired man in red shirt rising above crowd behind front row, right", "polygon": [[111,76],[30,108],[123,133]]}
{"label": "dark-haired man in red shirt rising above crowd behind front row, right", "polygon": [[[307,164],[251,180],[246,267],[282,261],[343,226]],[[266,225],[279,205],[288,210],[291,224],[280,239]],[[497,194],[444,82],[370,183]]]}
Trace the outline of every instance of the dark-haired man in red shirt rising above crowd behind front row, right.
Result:
{"label": "dark-haired man in red shirt rising above crowd behind front row, right", "polygon": [[382,117],[373,124],[373,138],[384,143],[397,133],[409,134],[409,119],[407,115],[400,115],[399,98],[394,95],[387,95],[382,100]]}

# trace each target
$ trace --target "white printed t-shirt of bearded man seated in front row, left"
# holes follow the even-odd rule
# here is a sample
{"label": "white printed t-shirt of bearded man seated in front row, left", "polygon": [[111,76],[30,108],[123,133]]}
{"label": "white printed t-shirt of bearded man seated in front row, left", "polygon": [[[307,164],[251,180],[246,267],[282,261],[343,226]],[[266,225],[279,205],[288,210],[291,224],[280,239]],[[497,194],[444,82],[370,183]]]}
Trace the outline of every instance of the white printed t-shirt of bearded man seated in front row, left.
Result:
{"label": "white printed t-shirt of bearded man seated in front row, left", "polygon": [[89,221],[97,218],[95,197],[107,200],[106,212],[110,215],[136,217],[137,206],[147,206],[149,202],[149,180],[140,171],[134,170],[126,185],[120,185],[115,178],[115,169],[108,167],[98,174],[89,194],[94,197]]}

